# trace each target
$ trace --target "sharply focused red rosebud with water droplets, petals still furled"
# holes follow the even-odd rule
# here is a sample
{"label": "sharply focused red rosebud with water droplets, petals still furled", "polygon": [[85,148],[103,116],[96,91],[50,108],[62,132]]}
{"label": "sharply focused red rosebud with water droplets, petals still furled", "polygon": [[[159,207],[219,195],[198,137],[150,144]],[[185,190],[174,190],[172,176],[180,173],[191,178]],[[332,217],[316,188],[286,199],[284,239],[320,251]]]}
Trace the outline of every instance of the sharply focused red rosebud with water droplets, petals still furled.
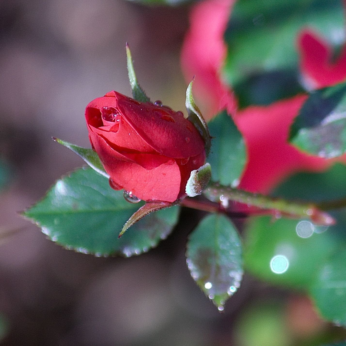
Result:
{"label": "sharply focused red rosebud with water droplets, petals still furled", "polygon": [[116,91],[85,109],[92,147],[111,186],[144,201],[174,202],[186,196],[192,171],[206,159],[204,142],[182,112],[141,103]]}

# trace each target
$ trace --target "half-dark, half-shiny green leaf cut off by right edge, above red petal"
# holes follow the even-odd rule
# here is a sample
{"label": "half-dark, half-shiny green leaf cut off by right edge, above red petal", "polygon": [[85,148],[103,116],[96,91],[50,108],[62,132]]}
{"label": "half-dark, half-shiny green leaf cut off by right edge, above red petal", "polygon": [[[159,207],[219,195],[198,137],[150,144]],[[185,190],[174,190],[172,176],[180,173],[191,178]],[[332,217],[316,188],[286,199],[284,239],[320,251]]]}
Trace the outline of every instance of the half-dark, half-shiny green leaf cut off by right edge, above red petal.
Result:
{"label": "half-dark, half-shiny green leaf cut off by right edge, above red petal", "polygon": [[346,152],[346,82],[311,92],[293,122],[289,140],[321,157]]}

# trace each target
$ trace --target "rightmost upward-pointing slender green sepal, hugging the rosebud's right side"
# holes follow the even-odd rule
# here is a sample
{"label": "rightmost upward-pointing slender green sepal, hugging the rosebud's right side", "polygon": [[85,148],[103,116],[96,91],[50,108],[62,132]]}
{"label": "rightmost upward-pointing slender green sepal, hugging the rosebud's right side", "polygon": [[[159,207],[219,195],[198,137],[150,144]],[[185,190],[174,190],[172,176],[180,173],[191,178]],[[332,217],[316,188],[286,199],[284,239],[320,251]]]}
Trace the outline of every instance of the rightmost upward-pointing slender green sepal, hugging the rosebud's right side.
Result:
{"label": "rightmost upward-pointing slender green sepal, hugging the rosebud's right side", "polygon": [[188,111],[188,120],[193,124],[193,126],[197,129],[199,134],[204,140],[204,147],[206,149],[206,156],[209,155],[210,151],[210,134],[208,130],[208,126],[206,121],[204,120],[201,111],[197,107],[193,95],[192,95],[192,83],[193,80],[190,82],[188,89],[186,89],[186,101],[185,101],[185,107]]}

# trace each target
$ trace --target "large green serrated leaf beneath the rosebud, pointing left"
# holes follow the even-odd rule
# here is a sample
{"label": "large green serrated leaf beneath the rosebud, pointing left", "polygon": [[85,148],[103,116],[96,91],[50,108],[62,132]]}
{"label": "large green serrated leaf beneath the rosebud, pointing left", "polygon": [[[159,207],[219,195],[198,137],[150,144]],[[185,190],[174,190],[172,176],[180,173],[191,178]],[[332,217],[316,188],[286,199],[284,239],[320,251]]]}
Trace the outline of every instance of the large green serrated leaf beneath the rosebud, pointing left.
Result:
{"label": "large green serrated leaf beneath the rosebud, pointing left", "polygon": [[157,211],[118,234],[138,205],[128,203],[121,191],[90,168],[59,179],[46,197],[23,215],[36,222],[53,241],[96,256],[131,256],[148,251],[175,226],[179,207]]}

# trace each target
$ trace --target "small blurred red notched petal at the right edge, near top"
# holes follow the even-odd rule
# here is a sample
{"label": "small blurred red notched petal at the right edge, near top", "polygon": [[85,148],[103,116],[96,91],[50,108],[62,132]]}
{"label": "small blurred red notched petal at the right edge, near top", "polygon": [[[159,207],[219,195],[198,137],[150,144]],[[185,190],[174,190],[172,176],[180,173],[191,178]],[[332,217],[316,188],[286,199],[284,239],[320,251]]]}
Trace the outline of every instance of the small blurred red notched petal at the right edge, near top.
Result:
{"label": "small blurred red notched petal at the right edge, near top", "polygon": [[303,30],[298,36],[300,68],[309,89],[323,88],[343,82],[346,79],[346,47],[332,62],[331,46],[310,30]]}

